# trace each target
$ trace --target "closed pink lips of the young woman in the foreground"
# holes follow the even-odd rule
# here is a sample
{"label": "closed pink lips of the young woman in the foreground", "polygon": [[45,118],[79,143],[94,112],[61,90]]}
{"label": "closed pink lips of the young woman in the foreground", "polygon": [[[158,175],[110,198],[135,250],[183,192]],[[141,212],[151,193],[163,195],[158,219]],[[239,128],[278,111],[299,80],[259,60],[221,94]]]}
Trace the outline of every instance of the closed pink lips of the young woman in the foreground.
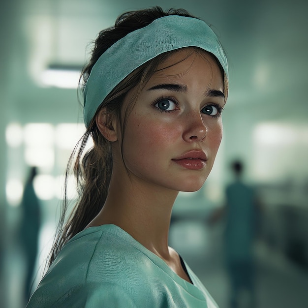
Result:
{"label": "closed pink lips of the young woman in the foreground", "polygon": [[199,170],[204,168],[207,159],[207,155],[203,151],[193,150],[172,160],[186,169]]}

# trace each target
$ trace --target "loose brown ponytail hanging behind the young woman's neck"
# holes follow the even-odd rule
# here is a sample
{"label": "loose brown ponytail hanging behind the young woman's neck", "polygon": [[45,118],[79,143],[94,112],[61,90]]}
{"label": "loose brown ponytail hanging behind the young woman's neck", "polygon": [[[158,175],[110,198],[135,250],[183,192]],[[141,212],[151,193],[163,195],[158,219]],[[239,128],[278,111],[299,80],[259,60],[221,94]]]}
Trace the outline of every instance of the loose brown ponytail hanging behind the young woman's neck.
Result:
{"label": "loose brown ponytail hanging behind the young woman's neck", "polygon": [[[99,213],[107,198],[112,171],[111,149],[108,141],[99,133],[97,127],[95,128],[92,132],[89,130],[85,132],[70,155],[65,172],[61,217],[48,266],[55,260],[62,246],[82,231]],[[94,145],[82,158],[90,137],[92,137]],[[79,201],[65,223],[69,207],[67,184],[73,163],[73,174],[77,182]]]}

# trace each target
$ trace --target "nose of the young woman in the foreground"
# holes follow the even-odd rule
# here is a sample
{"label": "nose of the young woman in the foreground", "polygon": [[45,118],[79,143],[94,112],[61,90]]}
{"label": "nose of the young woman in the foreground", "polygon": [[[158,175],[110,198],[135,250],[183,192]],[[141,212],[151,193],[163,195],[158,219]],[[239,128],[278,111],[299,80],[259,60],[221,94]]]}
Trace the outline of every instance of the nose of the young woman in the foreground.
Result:
{"label": "nose of the young woman in the foreground", "polygon": [[198,115],[192,116],[190,114],[187,116],[185,130],[183,132],[183,139],[186,142],[202,141],[207,135],[207,132],[208,127],[203,122],[200,112],[198,112]]}

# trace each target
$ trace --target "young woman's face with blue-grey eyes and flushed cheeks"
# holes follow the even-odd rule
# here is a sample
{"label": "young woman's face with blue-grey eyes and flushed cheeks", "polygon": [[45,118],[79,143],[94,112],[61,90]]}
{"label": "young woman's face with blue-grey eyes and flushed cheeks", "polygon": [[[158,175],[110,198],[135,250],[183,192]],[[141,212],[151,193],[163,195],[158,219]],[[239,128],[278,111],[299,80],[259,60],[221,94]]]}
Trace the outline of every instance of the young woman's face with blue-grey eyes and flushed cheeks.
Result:
{"label": "young woman's face with blue-grey eyes and flushed cheeks", "polygon": [[[201,188],[221,141],[224,104],[221,72],[210,56],[184,49],[161,63],[125,127],[123,159],[132,181],[176,191]],[[114,168],[125,167],[115,159]]]}

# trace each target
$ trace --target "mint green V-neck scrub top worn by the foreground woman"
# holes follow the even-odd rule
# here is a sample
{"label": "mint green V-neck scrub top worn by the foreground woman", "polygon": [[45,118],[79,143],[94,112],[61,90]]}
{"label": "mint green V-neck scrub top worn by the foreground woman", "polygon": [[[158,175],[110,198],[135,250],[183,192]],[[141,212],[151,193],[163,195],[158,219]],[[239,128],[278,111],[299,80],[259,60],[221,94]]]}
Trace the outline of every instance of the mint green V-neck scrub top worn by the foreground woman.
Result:
{"label": "mint green V-neck scrub top worn by the foreground woman", "polygon": [[63,246],[27,308],[217,308],[184,264],[192,284],[120,227],[90,227]]}

